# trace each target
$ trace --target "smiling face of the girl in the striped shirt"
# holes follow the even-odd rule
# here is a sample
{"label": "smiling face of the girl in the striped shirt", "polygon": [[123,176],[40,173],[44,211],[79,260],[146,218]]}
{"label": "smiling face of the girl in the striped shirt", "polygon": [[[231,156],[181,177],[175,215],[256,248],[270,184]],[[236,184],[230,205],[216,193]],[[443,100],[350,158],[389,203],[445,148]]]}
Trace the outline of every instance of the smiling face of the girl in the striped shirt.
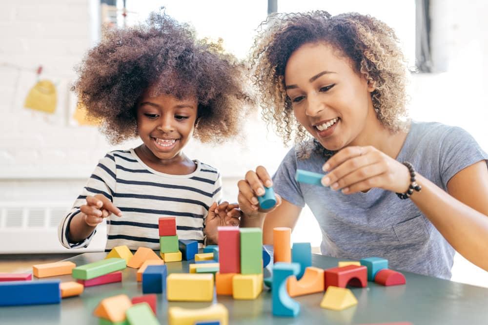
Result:
{"label": "smiling face of the girl in the striped shirt", "polygon": [[[137,130],[145,147],[160,162],[178,159],[191,138],[197,119],[197,99],[142,94],[137,107]],[[147,153],[147,151],[145,151]]]}

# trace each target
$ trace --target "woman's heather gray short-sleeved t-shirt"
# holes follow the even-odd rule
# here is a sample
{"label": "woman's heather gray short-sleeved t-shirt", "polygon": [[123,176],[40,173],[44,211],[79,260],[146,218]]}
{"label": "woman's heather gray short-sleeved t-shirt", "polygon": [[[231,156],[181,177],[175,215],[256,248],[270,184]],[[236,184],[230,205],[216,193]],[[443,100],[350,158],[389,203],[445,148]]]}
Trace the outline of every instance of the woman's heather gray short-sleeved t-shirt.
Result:
{"label": "woman's heather gray short-sleeved t-shirt", "polygon": [[[314,152],[300,160],[293,148],[273,176],[278,194],[313,212],[322,230],[322,254],[355,260],[378,256],[393,269],[450,279],[454,249],[411,200],[379,188],[345,195],[295,181],[297,168],[323,173],[326,159]],[[411,162],[418,173],[447,191],[452,176],[487,159],[459,127],[412,122],[396,160]]]}

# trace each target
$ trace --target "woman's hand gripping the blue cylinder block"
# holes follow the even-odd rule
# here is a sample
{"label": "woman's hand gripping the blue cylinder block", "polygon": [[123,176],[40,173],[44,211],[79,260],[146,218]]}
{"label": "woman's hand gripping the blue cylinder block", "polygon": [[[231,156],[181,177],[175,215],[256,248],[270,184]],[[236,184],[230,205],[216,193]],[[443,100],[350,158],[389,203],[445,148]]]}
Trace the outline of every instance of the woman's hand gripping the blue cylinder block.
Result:
{"label": "woman's hand gripping the blue cylinder block", "polygon": [[263,210],[259,206],[258,196],[264,195],[264,186],[273,186],[273,181],[263,166],[258,166],[256,172],[246,172],[245,179],[241,179],[237,186],[239,187],[239,195],[237,196],[239,208],[246,216],[258,216],[261,213],[271,212],[281,204],[281,196],[275,193],[276,204],[274,207]]}

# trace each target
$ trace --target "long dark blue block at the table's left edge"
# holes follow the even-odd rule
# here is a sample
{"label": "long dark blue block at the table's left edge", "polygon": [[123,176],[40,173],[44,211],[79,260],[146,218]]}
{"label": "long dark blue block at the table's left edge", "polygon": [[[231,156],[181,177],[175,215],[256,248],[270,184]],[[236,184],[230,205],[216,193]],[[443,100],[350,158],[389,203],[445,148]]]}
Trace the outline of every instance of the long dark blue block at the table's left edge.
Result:
{"label": "long dark blue block at the table's left edge", "polygon": [[60,283],[61,280],[0,282],[0,306],[59,304]]}

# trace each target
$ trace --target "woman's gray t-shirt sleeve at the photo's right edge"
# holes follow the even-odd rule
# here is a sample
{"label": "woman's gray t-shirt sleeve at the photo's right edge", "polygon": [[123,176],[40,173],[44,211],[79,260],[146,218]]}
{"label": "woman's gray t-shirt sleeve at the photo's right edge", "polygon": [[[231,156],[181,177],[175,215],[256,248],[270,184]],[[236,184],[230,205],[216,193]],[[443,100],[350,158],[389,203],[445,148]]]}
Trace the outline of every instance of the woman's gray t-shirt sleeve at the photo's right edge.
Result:
{"label": "woman's gray t-shirt sleeve at the photo's right edge", "polygon": [[488,166],[488,154],[471,134],[460,127],[449,128],[441,143],[439,160],[444,187],[456,173],[481,160],[487,161]]}

